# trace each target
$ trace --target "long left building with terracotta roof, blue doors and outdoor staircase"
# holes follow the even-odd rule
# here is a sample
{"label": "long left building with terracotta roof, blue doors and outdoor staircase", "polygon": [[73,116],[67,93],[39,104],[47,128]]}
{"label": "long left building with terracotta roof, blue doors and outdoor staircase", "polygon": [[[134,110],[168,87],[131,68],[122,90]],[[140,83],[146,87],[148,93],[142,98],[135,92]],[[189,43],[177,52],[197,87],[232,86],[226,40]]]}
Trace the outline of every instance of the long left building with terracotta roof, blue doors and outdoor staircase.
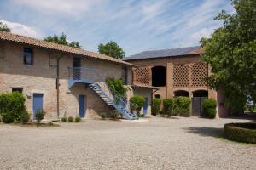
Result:
{"label": "long left building with terracotta roof, blue doors and outdoor staircase", "polygon": [[[95,117],[114,108],[128,119],[137,118],[129,111],[129,98],[135,88],[144,88],[131,86],[132,67],[103,54],[0,31],[0,93],[24,94],[32,116],[44,109],[48,119]],[[110,92],[106,77],[123,79],[126,99]],[[148,88],[144,91],[145,97],[151,95]],[[150,100],[144,106],[150,114]]]}

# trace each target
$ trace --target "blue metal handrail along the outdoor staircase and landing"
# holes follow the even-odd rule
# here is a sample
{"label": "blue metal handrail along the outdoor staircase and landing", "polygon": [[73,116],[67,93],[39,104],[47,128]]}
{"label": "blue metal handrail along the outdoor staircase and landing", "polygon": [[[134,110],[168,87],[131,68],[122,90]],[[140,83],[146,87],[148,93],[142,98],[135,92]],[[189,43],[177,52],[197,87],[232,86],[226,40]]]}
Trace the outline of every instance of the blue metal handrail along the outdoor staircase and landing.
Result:
{"label": "blue metal handrail along the outdoor staircase and landing", "polygon": [[[108,83],[105,82],[105,78],[102,77],[102,75],[99,74],[99,73],[96,71],[96,69],[93,69],[93,68],[84,68],[84,67],[69,67],[68,69],[69,69],[69,77],[72,77],[72,74],[70,74],[70,73],[72,73],[72,71],[73,71],[73,74],[74,74],[74,73],[79,73],[79,74],[77,75],[77,77],[74,77],[74,75],[73,75],[73,79],[74,79],[74,80],[83,80],[83,77],[81,77],[81,76],[83,76],[83,75],[81,75],[81,74],[82,74],[84,71],[92,71],[92,72],[96,75],[96,77],[99,78],[99,80],[98,80],[98,81],[96,81],[96,80],[90,80],[90,78],[89,78],[89,81],[90,81],[90,82],[98,82],[99,86],[100,86],[101,88],[103,88],[105,92],[108,93],[108,95],[109,95],[109,97],[110,97],[111,99],[113,99],[113,102],[114,102],[115,100],[119,100],[119,102],[121,102],[123,105],[125,105],[126,107],[128,107],[129,110],[131,110],[130,105],[133,105],[134,107],[137,107],[136,104],[133,104],[131,101],[128,101],[128,100],[125,98],[125,96],[117,96],[117,95],[115,95],[116,93],[111,90],[111,88],[108,86]],[[78,72],[76,72],[76,71],[78,71]],[[102,83],[103,83],[103,87],[102,87]],[[129,105],[127,105],[127,104],[129,104]]]}

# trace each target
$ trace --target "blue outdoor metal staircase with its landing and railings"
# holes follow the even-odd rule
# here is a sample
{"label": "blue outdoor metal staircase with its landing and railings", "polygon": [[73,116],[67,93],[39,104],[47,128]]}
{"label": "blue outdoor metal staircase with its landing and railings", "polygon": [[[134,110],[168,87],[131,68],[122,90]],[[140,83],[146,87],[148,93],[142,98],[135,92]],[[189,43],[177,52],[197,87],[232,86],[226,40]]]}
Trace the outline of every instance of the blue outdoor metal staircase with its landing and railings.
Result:
{"label": "blue outdoor metal staircase with its landing and railings", "polygon": [[[125,97],[118,97],[114,95],[104,78],[99,75],[96,70],[90,68],[70,68],[70,78],[68,81],[68,87],[71,88],[75,83],[89,84],[90,89],[99,96],[108,106],[113,107],[121,116],[124,116],[129,120],[138,119],[136,114],[129,111],[130,101],[127,101]],[[85,74],[85,73],[86,74]]]}

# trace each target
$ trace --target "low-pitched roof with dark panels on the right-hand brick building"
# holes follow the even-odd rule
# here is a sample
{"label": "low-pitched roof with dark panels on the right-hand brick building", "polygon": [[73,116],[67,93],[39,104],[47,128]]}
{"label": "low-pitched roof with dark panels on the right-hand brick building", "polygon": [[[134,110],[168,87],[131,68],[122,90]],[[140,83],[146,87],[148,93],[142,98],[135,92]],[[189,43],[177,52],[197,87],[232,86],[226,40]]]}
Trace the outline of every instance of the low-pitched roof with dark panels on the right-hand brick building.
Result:
{"label": "low-pitched roof with dark panels on the right-hand brick building", "polygon": [[152,51],[143,51],[138,54],[125,57],[123,60],[135,60],[135,59],[154,59],[161,57],[173,57],[180,55],[189,55],[189,54],[203,54],[204,49],[201,46],[188,47],[188,48],[171,48],[171,49],[160,49]]}

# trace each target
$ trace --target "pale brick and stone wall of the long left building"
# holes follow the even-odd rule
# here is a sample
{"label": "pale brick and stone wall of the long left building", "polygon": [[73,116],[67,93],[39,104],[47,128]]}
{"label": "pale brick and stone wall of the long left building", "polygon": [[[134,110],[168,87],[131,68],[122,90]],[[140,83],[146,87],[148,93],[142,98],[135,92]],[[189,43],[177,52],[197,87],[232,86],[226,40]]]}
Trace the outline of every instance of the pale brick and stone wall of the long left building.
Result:
{"label": "pale brick and stone wall of the long left building", "polygon": [[[27,110],[32,114],[32,94],[44,94],[46,117],[57,118],[56,71],[60,59],[60,116],[78,116],[79,95],[85,95],[86,117],[95,117],[96,112],[111,111],[102,99],[84,84],[68,88],[69,71],[73,67],[73,55],[61,54],[43,48],[32,48],[33,65],[23,64],[22,45],[0,43],[0,92],[11,92],[12,88],[23,88]],[[82,58],[82,66],[96,69],[102,77],[121,78],[122,65],[108,61]],[[131,68],[128,69],[128,83],[131,84]]]}

